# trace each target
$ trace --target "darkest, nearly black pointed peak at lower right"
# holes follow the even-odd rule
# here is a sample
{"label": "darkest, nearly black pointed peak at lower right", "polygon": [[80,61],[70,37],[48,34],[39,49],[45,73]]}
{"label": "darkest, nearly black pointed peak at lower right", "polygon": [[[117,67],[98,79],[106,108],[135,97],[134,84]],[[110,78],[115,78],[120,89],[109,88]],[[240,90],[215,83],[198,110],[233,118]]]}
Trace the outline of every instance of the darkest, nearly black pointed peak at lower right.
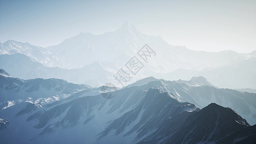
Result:
{"label": "darkest, nearly black pointed peak at lower right", "polygon": [[212,103],[197,112],[183,112],[171,122],[166,121],[164,126],[159,127],[142,142],[157,143],[164,139],[162,142],[168,144],[215,143],[230,133],[249,126],[247,121],[231,108]]}

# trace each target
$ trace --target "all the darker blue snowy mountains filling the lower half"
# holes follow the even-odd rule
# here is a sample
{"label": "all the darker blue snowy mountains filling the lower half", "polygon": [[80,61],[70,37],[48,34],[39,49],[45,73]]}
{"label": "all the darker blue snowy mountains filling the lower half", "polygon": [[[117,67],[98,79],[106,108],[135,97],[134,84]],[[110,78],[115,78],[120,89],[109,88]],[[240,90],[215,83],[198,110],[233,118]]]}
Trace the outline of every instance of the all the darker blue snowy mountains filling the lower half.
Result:
{"label": "all the darker blue snowy mountains filling the lower half", "polygon": [[117,89],[112,99],[100,87],[22,80],[4,70],[0,82],[1,103],[20,99],[0,110],[3,143],[256,142],[256,125],[250,126],[256,94],[220,89],[204,77],[148,77]]}

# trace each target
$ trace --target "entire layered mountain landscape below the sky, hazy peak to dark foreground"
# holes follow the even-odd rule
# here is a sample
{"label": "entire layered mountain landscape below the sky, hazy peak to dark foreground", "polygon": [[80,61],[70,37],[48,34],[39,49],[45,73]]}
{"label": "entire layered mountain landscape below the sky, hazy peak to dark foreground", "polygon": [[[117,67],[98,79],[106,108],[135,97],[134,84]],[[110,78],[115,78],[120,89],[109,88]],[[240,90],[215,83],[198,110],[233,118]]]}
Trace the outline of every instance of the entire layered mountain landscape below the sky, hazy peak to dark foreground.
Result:
{"label": "entire layered mountain landscape below the sky, hazy peak to dark foreground", "polygon": [[[146,44],[156,55],[145,62],[137,53]],[[114,75],[134,56],[144,67],[122,86]],[[256,51],[171,46],[129,23],[46,48],[8,40],[0,43],[0,140],[254,144],[255,82]]]}

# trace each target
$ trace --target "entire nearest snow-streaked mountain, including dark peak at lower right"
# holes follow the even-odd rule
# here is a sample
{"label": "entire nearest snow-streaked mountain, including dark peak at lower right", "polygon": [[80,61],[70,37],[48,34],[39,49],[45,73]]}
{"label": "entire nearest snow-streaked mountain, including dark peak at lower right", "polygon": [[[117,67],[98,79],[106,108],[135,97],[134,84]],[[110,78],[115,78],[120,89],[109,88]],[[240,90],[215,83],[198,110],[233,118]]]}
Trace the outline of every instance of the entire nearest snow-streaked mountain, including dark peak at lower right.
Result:
{"label": "entire nearest snow-streaked mountain, including dark peak at lower right", "polygon": [[[210,143],[222,139],[232,141],[244,128],[251,130],[244,136],[255,132],[255,127],[251,128],[231,108],[213,103],[200,110],[175,97],[158,88],[146,91],[143,86],[118,90],[113,99],[104,99],[101,95],[86,96],[82,91],[69,100],[43,106],[16,118],[20,123],[33,123],[28,128],[33,131],[22,139],[27,143],[71,140],[74,143]],[[17,132],[23,131],[17,129]],[[52,137],[57,133],[61,134],[57,137],[61,136],[62,140]]]}

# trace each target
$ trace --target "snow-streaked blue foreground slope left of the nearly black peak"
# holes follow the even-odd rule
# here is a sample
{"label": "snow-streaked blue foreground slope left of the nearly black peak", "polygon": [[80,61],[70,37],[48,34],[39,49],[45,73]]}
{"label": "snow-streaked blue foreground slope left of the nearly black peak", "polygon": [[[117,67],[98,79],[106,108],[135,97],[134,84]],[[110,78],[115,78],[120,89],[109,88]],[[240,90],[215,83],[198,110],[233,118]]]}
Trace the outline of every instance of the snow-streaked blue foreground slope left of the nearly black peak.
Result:
{"label": "snow-streaked blue foreground slope left of the nearly black peak", "polygon": [[95,142],[109,140],[114,131],[116,137],[124,137],[127,143],[133,143],[155,130],[161,121],[170,120],[183,111],[199,110],[195,105],[179,102],[173,98],[173,94],[156,88],[148,91],[134,87],[125,88],[118,90],[117,96],[110,100],[101,95],[84,95],[85,92],[81,92],[79,98],[46,105],[38,108],[34,114],[16,116],[17,119],[26,116],[27,122],[34,123],[31,126],[34,132],[28,134],[26,139],[32,139],[32,142],[46,141],[51,133],[64,132],[65,135],[65,132],[77,128],[83,128],[81,131],[85,133],[86,139],[87,129],[101,125],[102,127],[90,132],[95,137]]}

